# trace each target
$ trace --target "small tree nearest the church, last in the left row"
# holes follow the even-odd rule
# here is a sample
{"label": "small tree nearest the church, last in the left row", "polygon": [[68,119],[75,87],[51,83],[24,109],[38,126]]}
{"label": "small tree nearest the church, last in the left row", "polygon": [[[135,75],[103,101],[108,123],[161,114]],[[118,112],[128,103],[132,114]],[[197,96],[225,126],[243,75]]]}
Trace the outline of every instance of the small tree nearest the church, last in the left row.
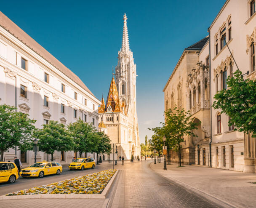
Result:
{"label": "small tree nearest the church, last in the left row", "polygon": [[97,154],[97,165],[99,164],[99,154],[110,154],[111,152],[111,144],[110,144],[110,139],[109,136],[107,136],[107,134],[105,134],[104,132],[97,132],[96,133],[96,145],[95,145],[95,149],[93,152],[96,152]]}

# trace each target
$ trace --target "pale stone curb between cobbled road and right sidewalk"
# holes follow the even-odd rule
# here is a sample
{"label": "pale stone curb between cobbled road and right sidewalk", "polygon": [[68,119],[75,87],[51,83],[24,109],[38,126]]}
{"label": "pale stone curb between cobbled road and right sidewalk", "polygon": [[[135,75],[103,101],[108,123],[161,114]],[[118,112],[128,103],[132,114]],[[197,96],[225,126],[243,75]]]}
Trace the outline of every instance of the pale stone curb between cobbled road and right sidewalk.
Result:
{"label": "pale stone curb between cobbled road and right sidewalk", "polygon": [[181,187],[184,187],[185,189],[188,189],[189,191],[191,191],[191,192],[193,192],[193,193],[195,193],[195,194],[201,195],[202,197],[204,197],[204,198],[206,198],[206,199],[208,199],[208,200],[211,200],[211,201],[214,202],[214,203],[219,203],[221,206],[223,206],[223,207],[225,207],[225,208],[230,208],[230,207],[232,207],[232,208],[237,208],[237,205],[232,205],[232,204],[230,204],[230,203],[228,203],[228,202],[226,202],[226,201],[224,201],[224,200],[222,200],[222,199],[220,199],[220,198],[218,198],[218,197],[215,197],[215,196],[213,196],[213,195],[211,195],[211,194],[208,194],[207,192],[204,192],[204,191],[202,191],[202,190],[200,190],[200,189],[197,189],[197,188],[195,188],[195,187],[192,187],[192,186],[190,186],[189,184],[184,183],[183,181],[180,181],[180,180],[178,180],[178,179],[174,179],[174,178],[172,178],[172,177],[168,177],[168,178],[167,178],[167,177],[163,176],[162,174],[157,173],[157,171],[155,171],[155,170],[151,167],[152,164],[153,164],[153,162],[149,164],[149,168],[150,168],[152,171],[154,171],[157,175],[163,177],[164,179],[166,179],[166,180],[168,180],[168,181],[170,181],[170,182],[174,182],[175,184],[177,184],[177,185],[179,185],[179,186],[181,186]]}

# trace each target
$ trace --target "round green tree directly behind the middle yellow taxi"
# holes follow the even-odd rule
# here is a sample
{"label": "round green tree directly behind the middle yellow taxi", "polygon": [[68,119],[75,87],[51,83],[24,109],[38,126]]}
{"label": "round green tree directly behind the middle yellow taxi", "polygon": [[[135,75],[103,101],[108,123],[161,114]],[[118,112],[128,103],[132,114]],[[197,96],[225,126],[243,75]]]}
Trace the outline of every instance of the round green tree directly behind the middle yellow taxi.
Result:
{"label": "round green tree directly behind the middle yellow taxi", "polygon": [[39,150],[51,155],[53,161],[54,151],[70,151],[74,147],[74,141],[65,125],[50,120],[43,128],[35,131],[35,137],[39,139]]}

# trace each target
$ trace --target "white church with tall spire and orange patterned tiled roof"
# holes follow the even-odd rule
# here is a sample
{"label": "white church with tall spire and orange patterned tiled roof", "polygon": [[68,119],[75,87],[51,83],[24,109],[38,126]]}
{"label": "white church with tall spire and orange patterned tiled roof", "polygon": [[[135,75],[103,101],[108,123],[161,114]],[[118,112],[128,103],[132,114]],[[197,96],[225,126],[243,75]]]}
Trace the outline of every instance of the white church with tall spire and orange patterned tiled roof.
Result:
{"label": "white church with tall spire and orange patterned tiled roof", "polygon": [[136,64],[129,47],[127,17],[124,15],[122,48],[118,52],[115,78],[112,77],[106,104],[99,107],[99,131],[107,133],[117,144],[117,155],[130,159],[140,156],[139,128],[136,111]]}

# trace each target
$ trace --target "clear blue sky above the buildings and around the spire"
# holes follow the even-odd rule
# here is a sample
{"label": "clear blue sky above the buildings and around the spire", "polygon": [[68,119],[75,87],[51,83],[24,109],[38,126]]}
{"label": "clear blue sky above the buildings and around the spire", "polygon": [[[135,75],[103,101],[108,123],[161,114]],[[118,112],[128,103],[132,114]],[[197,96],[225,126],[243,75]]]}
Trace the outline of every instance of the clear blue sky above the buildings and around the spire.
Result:
{"label": "clear blue sky above the buildings and around the spire", "polygon": [[3,1],[1,11],[106,100],[128,20],[140,140],[163,121],[163,87],[184,48],[207,36],[225,0]]}

